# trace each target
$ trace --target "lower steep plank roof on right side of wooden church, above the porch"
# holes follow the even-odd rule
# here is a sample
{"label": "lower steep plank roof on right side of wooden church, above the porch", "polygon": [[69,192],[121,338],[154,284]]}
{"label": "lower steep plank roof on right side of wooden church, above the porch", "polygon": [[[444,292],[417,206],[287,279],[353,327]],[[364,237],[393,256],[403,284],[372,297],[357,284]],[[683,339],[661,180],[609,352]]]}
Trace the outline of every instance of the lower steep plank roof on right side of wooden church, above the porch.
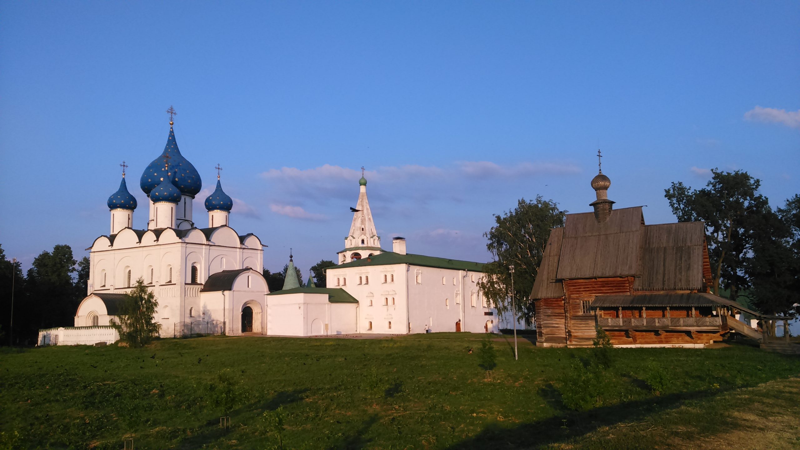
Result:
{"label": "lower steep plank roof on right side of wooden church, above the porch", "polygon": [[634,290],[702,290],[702,255],[706,229],[702,222],[648,225]]}

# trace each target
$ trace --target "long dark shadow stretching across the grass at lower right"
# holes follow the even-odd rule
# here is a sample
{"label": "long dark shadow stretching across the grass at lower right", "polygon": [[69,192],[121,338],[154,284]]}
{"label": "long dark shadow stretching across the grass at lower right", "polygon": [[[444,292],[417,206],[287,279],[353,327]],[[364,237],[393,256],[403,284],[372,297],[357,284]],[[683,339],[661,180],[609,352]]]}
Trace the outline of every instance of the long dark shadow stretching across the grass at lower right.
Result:
{"label": "long dark shadow stretching across the grass at lower right", "polygon": [[450,446],[450,449],[511,450],[515,448],[539,448],[548,444],[568,444],[570,440],[592,432],[600,427],[608,427],[620,422],[640,420],[658,412],[678,408],[685,400],[698,400],[718,396],[726,390],[681,392],[668,396],[651,397],[594,408],[590,411],[564,411],[561,394],[552,385],[542,388],[539,393],[550,404],[562,410],[562,414],[543,420],[521,424],[514,428],[503,428],[489,424],[470,439]]}

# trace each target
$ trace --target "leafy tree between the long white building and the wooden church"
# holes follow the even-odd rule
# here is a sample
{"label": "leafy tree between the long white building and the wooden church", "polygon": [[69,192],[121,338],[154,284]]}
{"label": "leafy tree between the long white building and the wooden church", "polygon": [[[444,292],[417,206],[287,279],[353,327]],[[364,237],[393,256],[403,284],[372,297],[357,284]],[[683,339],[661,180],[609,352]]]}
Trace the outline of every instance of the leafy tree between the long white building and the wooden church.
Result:
{"label": "leafy tree between the long white building and the wooden church", "polygon": [[[494,215],[494,227],[484,233],[489,239],[486,248],[494,261],[486,264],[487,276],[480,283],[483,295],[497,308],[498,314],[511,309],[510,295],[514,295],[517,311],[514,318],[525,319],[531,323],[534,318],[534,305],[530,301],[530,291],[542,262],[550,229],[562,227],[566,211],[558,209],[558,203],[542,199],[537,195],[534,201],[519,199],[513,211],[504,215]],[[514,265],[514,292],[511,292],[511,273]]]}

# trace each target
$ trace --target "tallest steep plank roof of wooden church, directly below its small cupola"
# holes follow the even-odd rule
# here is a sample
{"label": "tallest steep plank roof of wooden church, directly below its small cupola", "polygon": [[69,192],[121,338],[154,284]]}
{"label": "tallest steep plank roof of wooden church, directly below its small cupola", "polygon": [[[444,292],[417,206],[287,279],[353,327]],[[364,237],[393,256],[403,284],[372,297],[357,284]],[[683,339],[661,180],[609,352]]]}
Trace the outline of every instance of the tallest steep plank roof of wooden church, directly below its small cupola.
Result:
{"label": "tallest steep plank roof of wooden church, directly below its small cupola", "polygon": [[635,275],[642,225],[642,207],[613,210],[603,223],[593,212],[566,215],[556,278]]}

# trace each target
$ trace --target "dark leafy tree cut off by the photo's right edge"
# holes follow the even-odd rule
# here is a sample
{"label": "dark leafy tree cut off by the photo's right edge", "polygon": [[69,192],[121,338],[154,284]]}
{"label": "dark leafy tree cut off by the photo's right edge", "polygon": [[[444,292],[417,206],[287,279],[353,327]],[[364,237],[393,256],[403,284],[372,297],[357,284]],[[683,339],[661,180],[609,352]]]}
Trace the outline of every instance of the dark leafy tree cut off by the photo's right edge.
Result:
{"label": "dark leafy tree cut off by the photo's right edge", "polygon": [[765,314],[796,311],[800,303],[800,195],[760,216],[746,275],[750,303]]}

